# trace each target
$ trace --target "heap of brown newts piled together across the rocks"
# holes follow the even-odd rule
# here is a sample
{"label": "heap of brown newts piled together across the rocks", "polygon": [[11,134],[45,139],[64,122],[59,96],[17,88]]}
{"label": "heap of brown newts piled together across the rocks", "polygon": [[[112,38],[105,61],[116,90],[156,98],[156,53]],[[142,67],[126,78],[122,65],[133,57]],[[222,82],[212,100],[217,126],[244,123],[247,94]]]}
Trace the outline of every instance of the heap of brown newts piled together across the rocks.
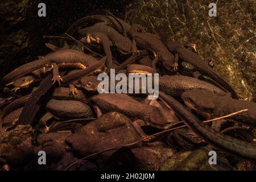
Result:
{"label": "heap of brown newts piled together across the rocks", "polygon": [[[31,125],[36,135],[69,131],[74,139],[69,135],[64,142],[90,155],[100,149],[90,151],[72,142],[83,137],[85,127],[98,126],[98,118],[119,113],[131,120],[129,128],[136,131],[137,140],[188,126],[144,143],[158,141],[176,151],[209,146],[224,157],[256,160],[256,104],[239,100],[236,90],[213,70],[214,60],[201,57],[195,44],[164,44],[158,35],[108,11],[81,18],[64,35],[46,39],[47,55],[1,80],[5,85],[0,102],[1,133],[19,125]],[[148,100],[147,94],[99,94],[97,75],[108,74],[110,69],[126,74],[159,73],[158,100]],[[22,90],[31,93],[22,95]],[[243,109],[248,110],[220,121],[202,122]],[[122,127],[120,123],[113,120],[108,127]],[[107,138],[113,137],[107,126],[98,127],[101,132],[110,131]],[[98,140],[104,143],[104,138]],[[79,158],[81,154],[85,155],[80,152]]]}

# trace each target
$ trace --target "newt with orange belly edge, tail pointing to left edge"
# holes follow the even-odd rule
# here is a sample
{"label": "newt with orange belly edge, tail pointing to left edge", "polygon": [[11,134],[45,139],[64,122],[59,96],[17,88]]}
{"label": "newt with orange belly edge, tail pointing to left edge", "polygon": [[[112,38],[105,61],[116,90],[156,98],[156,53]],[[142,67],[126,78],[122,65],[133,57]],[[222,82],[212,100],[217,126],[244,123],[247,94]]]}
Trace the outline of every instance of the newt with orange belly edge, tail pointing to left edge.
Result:
{"label": "newt with orange belly edge, tail pointing to left edge", "polygon": [[97,61],[98,60],[94,57],[86,55],[83,52],[72,49],[65,49],[49,53],[42,59],[32,61],[20,66],[19,68],[16,68],[14,71],[3,77],[2,82],[5,84],[9,83],[17,78],[31,73],[32,71],[35,71],[36,69],[52,65],[53,84],[57,81],[60,85],[63,79],[59,76],[59,67],[75,67],[77,69],[84,69],[97,63]]}

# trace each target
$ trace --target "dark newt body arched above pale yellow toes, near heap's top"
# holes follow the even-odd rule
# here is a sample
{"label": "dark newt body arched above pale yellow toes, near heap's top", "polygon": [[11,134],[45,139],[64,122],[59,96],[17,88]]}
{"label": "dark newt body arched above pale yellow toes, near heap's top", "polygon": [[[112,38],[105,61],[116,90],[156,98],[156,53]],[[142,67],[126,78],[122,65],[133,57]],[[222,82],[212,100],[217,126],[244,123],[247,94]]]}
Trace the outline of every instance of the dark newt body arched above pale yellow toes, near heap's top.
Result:
{"label": "dark newt body arched above pale yellow toes, near heap's top", "polygon": [[119,34],[114,28],[107,26],[106,23],[96,23],[92,27],[82,28],[78,32],[82,36],[86,36],[88,33],[101,32],[108,36],[113,46],[115,46],[119,52],[125,55],[131,53],[131,40]]}

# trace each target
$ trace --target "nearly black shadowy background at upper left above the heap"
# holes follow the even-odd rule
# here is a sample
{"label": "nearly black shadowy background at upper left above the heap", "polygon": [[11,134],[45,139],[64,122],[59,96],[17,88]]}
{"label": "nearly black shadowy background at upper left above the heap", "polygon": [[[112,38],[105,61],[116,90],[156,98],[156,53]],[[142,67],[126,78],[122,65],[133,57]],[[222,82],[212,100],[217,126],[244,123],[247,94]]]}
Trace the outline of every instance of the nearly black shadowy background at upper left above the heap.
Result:
{"label": "nearly black shadowy background at upper left above the heap", "polygon": [[[46,17],[38,16],[38,4],[46,4]],[[14,68],[48,53],[44,35],[61,35],[77,19],[110,10],[123,18],[129,0],[1,0],[0,78]]]}

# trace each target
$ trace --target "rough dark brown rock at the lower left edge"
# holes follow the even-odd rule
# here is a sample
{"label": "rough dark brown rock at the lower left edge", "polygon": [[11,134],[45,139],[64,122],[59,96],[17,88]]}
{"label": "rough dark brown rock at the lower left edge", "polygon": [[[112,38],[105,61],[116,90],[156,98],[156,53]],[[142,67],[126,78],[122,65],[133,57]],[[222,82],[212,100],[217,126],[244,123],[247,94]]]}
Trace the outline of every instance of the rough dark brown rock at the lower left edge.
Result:
{"label": "rough dark brown rock at the lower left edge", "polygon": [[18,125],[0,133],[0,163],[22,164],[32,155],[32,127]]}

